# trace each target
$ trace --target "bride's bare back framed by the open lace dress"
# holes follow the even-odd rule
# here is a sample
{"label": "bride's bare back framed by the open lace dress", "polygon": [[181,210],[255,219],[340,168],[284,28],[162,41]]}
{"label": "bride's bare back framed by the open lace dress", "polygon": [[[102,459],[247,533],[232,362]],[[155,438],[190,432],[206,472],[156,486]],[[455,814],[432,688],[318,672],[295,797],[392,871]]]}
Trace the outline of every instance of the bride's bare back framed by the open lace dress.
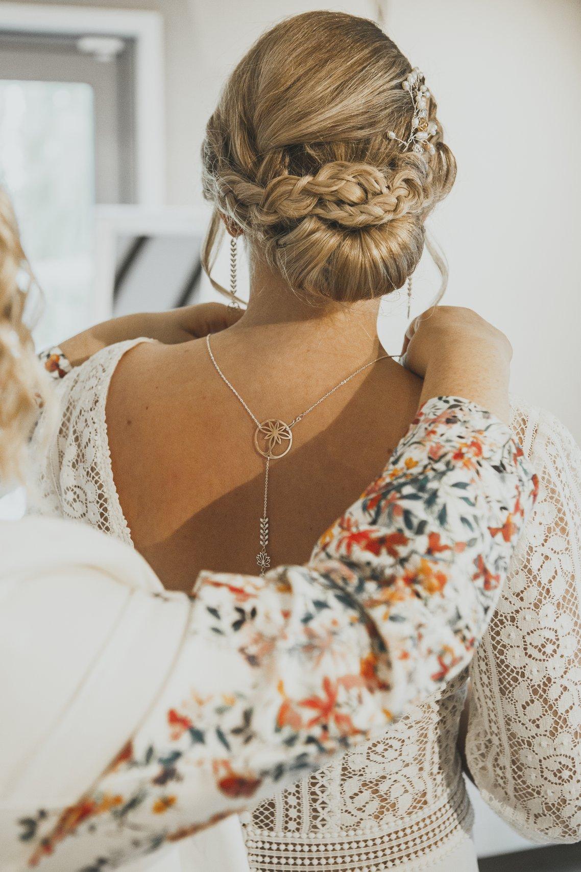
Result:
{"label": "bride's bare back framed by the open lace dress", "polygon": [[[254,360],[253,344],[223,336],[213,338],[220,366],[260,420],[294,419],[349,374],[348,361],[335,355],[322,371],[298,364],[288,377]],[[273,566],[306,562],[319,535],[381,473],[421,386],[385,359],[294,427],[291,451],[270,465]],[[213,368],[205,342],[139,344],[125,354],[106,417],[132,540],[166,587],[189,591],[201,569],[256,574],[265,463],[253,447],[253,420]]]}

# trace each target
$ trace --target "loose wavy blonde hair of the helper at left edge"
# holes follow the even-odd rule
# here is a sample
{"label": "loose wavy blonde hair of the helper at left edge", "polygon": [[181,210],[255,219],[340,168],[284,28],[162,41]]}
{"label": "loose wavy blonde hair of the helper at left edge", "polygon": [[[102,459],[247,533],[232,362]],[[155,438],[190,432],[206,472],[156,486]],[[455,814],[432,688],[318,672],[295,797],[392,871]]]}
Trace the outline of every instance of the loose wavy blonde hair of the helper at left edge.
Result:
{"label": "loose wavy blonde hair of the helper at left edge", "polygon": [[0,480],[24,480],[25,446],[48,383],[24,323],[25,289],[32,279],[10,197],[0,188]]}

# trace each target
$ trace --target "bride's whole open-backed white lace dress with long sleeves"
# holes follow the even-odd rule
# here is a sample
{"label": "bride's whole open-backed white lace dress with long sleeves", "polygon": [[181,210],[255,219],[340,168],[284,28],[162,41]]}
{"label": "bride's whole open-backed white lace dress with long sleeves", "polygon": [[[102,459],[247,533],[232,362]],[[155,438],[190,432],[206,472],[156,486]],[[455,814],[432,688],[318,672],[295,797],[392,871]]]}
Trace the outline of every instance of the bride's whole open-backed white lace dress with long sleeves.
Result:
{"label": "bride's whole open-backed white lace dress with long sleeves", "polygon": [[[59,385],[61,426],[37,467],[32,506],[128,543],[105,400],[118,359],[133,344],[101,352]],[[512,428],[533,460],[540,493],[470,666],[467,759],[483,799],[519,833],[573,842],[581,839],[581,452],[557,419],[522,403],[513,405]],[[467,678],[464,672],[384,738],[247,815],[250,868],[477,869],[456,752]]]}

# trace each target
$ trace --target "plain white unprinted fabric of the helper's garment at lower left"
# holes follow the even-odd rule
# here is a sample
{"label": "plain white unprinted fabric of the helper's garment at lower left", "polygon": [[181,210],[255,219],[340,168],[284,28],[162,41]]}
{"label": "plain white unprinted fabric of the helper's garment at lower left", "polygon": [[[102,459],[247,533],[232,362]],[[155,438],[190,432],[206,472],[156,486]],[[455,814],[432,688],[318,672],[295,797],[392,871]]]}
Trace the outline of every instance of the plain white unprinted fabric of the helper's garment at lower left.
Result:
{"label": "plain white unprinted fabric of the helper's garment at lower left", "polygon": [[[136,551],[84,524],[0,522],[0,554],[0,685],[10,712],[0,718],[0,746],[10,748],[0,756],[0,808],[28,813],[75,802],[108,766],[166,684],[190,612],[183,595],[163,609],[138,596],[162,591],[158,577]],[[125,869],[247,872],[240,822],[226,818]]]}

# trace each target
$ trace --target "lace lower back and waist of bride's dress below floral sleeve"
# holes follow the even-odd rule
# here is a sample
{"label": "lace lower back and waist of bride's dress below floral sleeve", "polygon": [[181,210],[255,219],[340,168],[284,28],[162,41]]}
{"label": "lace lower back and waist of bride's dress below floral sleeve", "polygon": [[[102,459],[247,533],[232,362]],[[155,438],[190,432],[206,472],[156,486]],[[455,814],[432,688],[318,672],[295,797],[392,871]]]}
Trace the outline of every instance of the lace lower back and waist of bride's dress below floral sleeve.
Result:
{"label": "lace lower back and waist of bride's dress below floral sleeve", "polygon": [[381,739],[260,804],[245,825],[250,868],[421,869],[455,848],[472,828],[456,754],[465,685],[464,672]]}

